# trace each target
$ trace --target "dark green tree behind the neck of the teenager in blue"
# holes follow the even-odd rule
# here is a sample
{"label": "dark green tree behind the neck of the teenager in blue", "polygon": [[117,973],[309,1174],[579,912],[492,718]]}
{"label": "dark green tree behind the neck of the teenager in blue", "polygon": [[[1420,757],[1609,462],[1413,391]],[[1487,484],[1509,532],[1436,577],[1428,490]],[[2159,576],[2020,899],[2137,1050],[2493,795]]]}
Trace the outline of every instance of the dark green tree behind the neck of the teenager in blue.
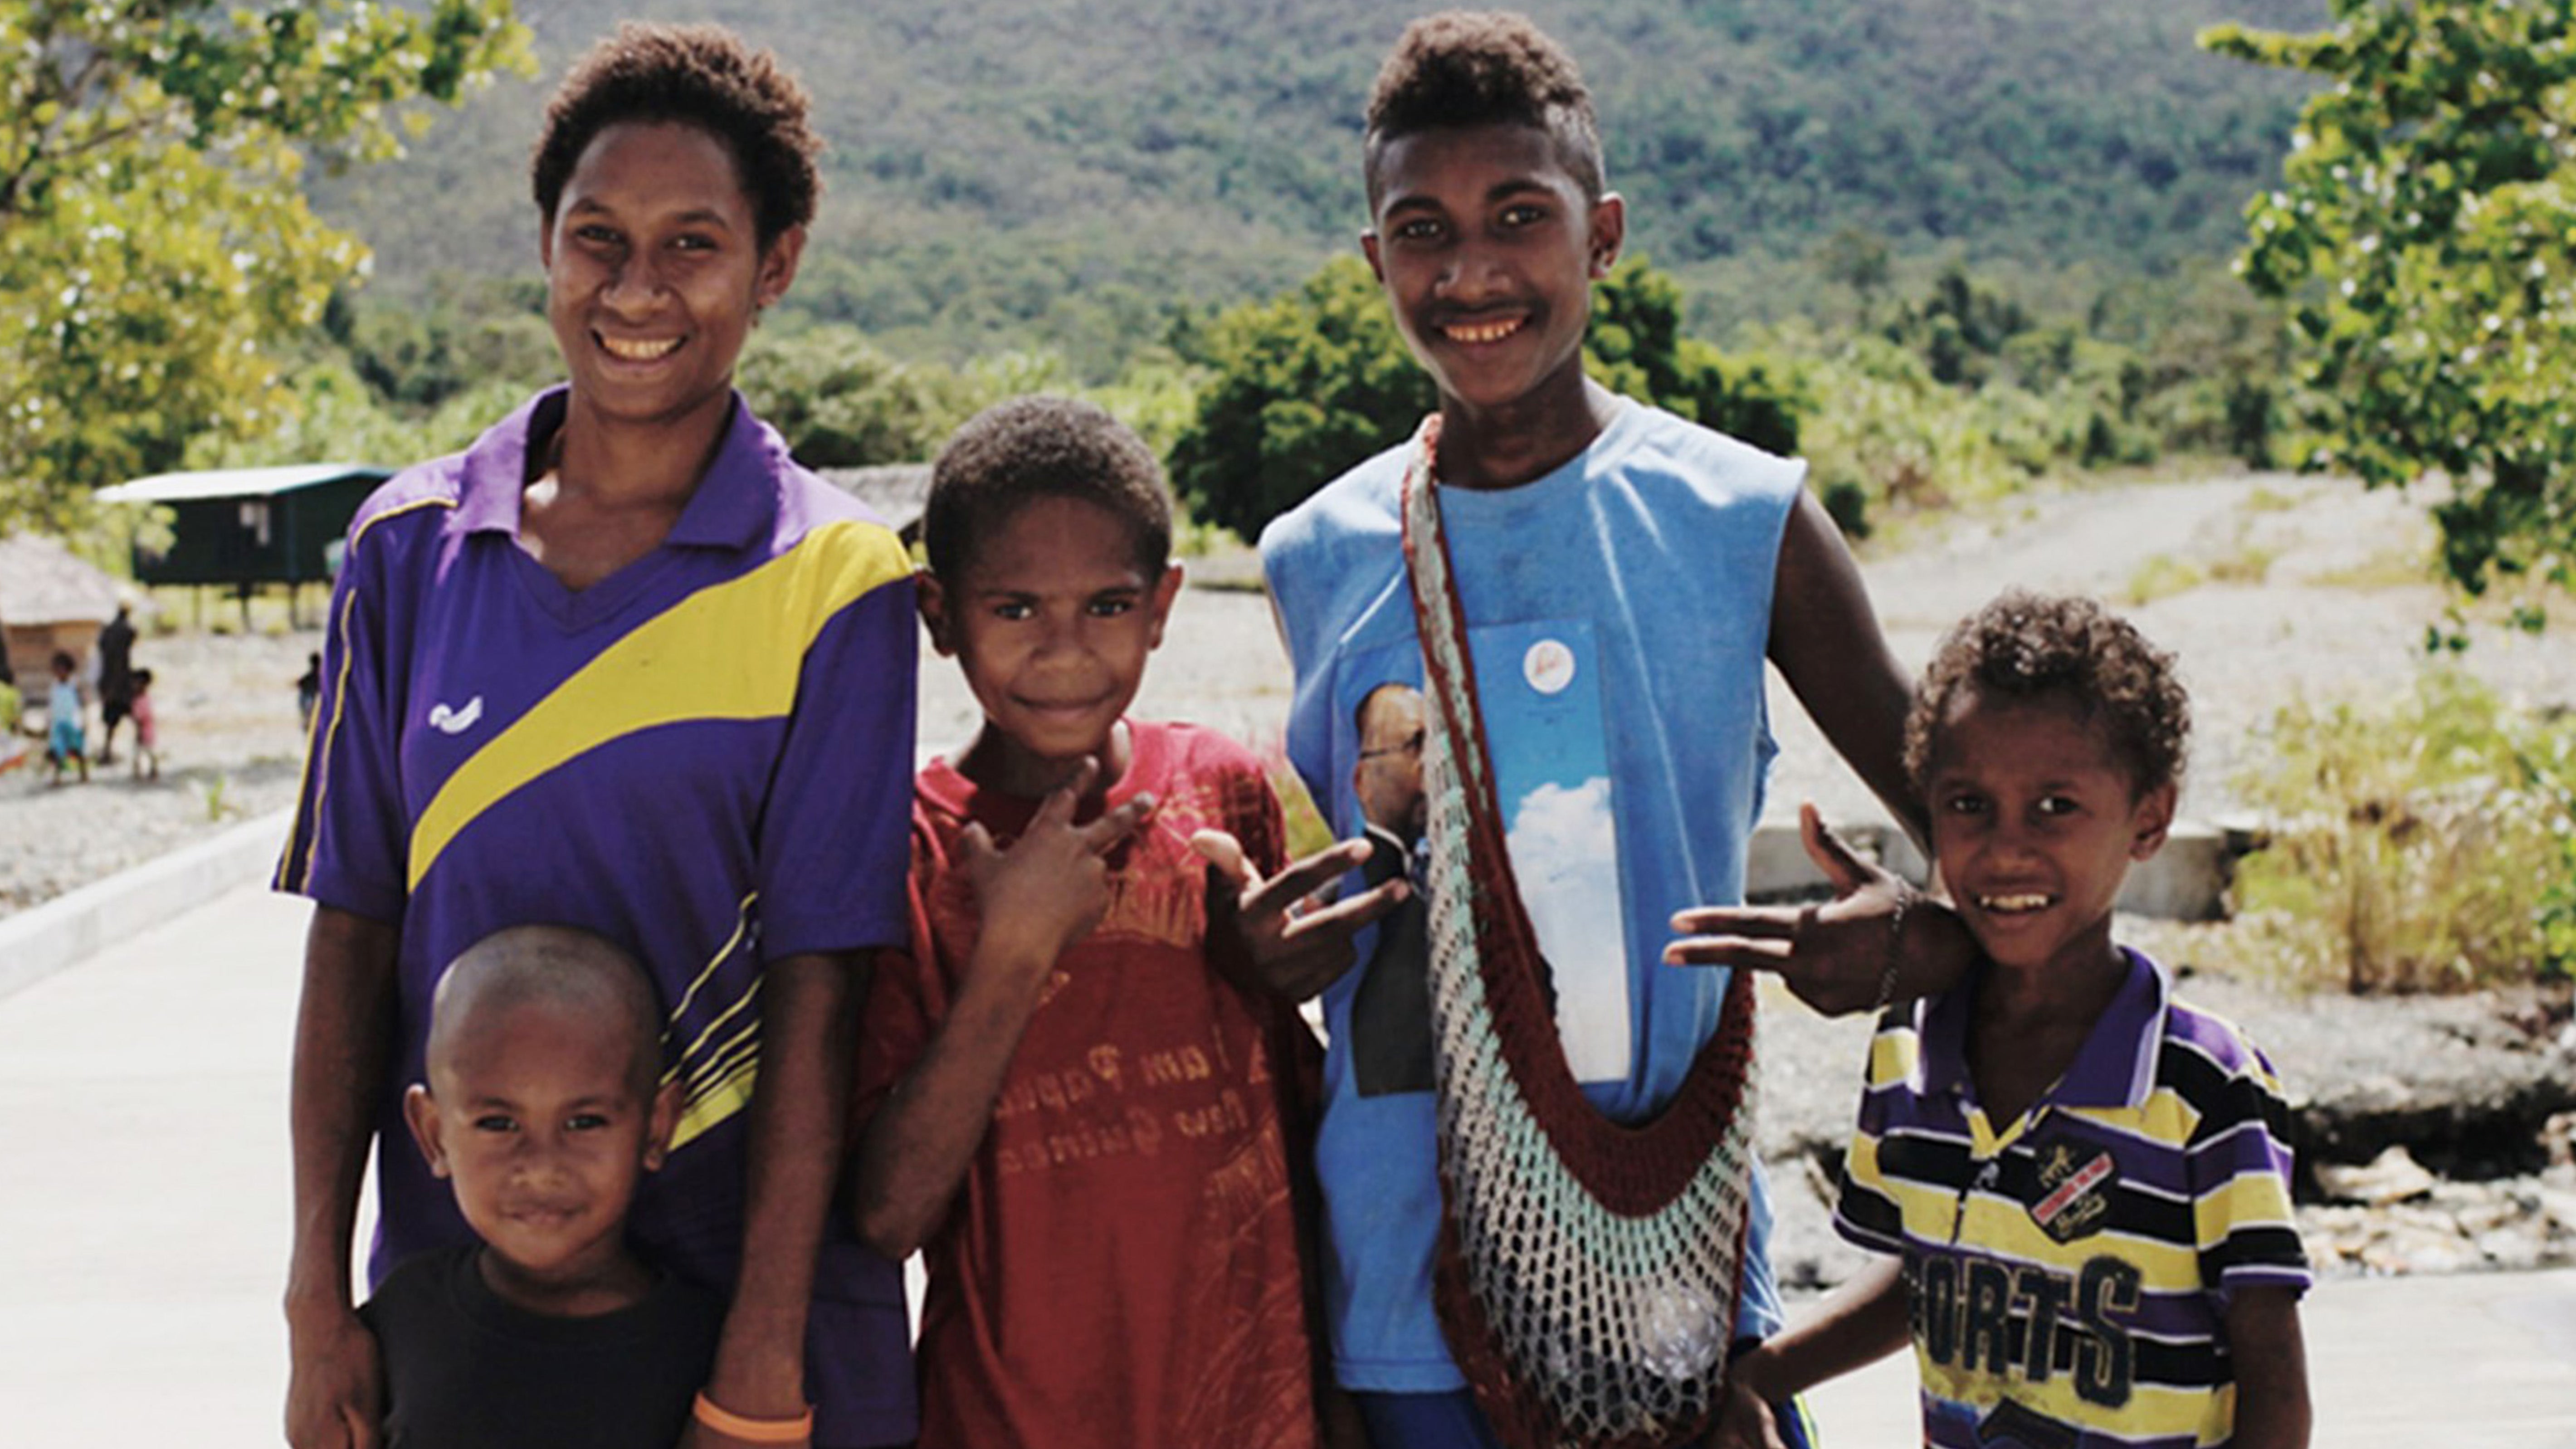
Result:
{"label": "dark green tree behind the neck of the teenager in blue", "polygon": [[[1208,327],[1211,379],[1172,443],[1172,487],[1206,523],[1252,536],[1440,405],[1404,351],[1368,263],[1334,258],[1303,286]],[[1682,291],[1641,258],[1592,289],[1584,364],[1605,387],[1772,451],[1798,449],[1801,402],[1762,364],[1682,335]]]}

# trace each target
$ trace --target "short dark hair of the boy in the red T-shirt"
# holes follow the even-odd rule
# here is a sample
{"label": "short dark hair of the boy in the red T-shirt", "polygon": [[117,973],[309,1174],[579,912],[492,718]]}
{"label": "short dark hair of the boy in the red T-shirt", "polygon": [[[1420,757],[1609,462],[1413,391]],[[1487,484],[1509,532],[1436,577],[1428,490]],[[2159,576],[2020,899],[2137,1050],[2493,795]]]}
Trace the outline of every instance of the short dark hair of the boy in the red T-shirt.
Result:
{"label": "short dark hair of the boy in the red T-shirt", "polygon": [[1154,449],[1090,402],[1012,397],[969,418],[930,464],[922,503],[930,572],[966,578],[976,541],[1038,498],[1105,508],[1126,523],[1149,580],[1172,562],[1172,492]]}

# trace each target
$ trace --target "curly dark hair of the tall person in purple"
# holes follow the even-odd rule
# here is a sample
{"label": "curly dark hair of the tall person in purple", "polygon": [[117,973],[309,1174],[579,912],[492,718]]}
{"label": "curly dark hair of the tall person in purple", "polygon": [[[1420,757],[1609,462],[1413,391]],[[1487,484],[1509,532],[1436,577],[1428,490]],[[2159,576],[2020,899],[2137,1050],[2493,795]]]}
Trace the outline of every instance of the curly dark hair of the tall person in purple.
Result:
{"label": "curly dark hair of the tall person in purple", "polygon": [[623,121],[683,121],[724,142],[752,201],[762,250],[814,219],[822,137],[806,124],[806,88],[778,57],[750,49],[724,26],[623,21],[572,64],[536,139],[528,180],[536,209],[554,209],[582,152]]}

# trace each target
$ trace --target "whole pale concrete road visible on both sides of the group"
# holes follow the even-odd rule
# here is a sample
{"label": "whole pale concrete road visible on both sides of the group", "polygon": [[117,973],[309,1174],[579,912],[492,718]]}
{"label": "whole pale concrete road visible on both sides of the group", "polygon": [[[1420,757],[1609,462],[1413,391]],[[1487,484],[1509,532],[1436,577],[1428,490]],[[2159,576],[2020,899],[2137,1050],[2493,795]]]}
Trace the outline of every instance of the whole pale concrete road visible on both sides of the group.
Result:
{"label": "whole pale concrete road visible on both sides of the group", "polygon": [[[278,1444],[307,908],[258,887],[0,998],[0,1444]],[[2576,1449],[2576,1271],[2334,1281],[2318,1449]],[[1904,1359],[1816,1397],[1909,1444]]]}

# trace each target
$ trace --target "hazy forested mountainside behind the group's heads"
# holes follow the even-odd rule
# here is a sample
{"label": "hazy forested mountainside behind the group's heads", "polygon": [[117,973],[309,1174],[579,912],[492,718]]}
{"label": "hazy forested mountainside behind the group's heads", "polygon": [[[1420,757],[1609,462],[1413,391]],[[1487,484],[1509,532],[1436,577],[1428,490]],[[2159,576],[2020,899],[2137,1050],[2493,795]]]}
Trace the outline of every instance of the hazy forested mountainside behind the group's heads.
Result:
{"label": "hazy forested mountainside behind the group's heads", "polygon": [[[2200,54],[2324,0],[1533,0],[1582,59],[1633,245],[1700,286],[1857,227],[2020,276],[2215,263],[2277,175],[2298,83]],[[618,15],[714,18],[793,59],[829,191],[793,302],[899,351],[1077,361],[1175,304],[1306,276],[1363,219],[1358,126],[1412,8],[1365,0],[528,0],[546,77],[319,180],[376,291],[533,276],[544,90]]]}

